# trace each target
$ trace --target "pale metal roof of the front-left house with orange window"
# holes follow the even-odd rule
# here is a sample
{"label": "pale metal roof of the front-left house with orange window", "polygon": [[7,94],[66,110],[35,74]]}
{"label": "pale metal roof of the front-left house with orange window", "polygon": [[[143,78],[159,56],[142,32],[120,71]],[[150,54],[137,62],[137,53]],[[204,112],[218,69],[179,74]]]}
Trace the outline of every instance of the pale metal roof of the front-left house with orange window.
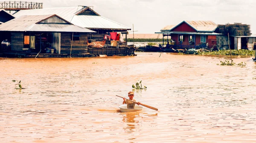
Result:
{"label": "pale metal roof of the front-left house with orange window", "polygon": [[36,24],[52,16],[24,15],[1,24],[0,31],[95,32],[72,24]]}

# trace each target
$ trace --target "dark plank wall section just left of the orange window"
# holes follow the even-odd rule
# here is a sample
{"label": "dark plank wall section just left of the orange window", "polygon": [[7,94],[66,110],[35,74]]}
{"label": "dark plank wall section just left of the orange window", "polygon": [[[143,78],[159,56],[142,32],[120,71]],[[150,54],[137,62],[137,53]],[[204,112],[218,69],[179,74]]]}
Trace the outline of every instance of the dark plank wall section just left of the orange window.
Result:
{"label": "dark plank wall section just left of the orange window", "polygon": [[24,47],[23,32],[11,33],[11,50],[22,51]]}

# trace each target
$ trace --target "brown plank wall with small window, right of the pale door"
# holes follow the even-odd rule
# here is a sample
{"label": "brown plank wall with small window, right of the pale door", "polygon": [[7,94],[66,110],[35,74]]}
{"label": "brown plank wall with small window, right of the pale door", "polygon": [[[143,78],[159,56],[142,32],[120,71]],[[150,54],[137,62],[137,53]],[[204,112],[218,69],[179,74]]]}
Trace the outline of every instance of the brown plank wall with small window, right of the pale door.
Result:
{"label": "brown plank wall with small window, right of the pale door", "polygon": [[[87,33],[80,33],[79,40],[73,40],[71,54],[87,53]],[[61,54],[70,54],[72,33],[61,33]]]}

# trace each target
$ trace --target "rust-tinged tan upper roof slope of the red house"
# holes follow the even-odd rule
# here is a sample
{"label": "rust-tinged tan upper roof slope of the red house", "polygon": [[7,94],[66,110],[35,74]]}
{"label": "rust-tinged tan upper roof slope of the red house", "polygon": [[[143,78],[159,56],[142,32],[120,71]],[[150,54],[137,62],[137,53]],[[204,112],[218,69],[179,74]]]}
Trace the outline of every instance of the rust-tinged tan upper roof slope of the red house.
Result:
{"label": "rust-tinged tan upper roof slope of the red house", "polygon": [[218,26],[212,21],[185,21],[185,22],[197,31],[214,31]]}

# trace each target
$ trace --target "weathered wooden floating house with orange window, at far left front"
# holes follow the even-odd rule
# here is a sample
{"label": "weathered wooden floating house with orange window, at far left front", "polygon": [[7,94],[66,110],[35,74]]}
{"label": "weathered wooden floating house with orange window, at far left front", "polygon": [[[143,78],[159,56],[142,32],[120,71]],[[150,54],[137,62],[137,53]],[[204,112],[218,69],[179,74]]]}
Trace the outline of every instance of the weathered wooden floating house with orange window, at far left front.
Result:
{"label": "weathered wooden floating house with orange window, at far left front", "polygon": [[95,31],[73,25],[56,14],[24,15],[0,25],[0,34],[11,43],[2,45],[3,54],[23,57],[87,54],[88,33]]}

